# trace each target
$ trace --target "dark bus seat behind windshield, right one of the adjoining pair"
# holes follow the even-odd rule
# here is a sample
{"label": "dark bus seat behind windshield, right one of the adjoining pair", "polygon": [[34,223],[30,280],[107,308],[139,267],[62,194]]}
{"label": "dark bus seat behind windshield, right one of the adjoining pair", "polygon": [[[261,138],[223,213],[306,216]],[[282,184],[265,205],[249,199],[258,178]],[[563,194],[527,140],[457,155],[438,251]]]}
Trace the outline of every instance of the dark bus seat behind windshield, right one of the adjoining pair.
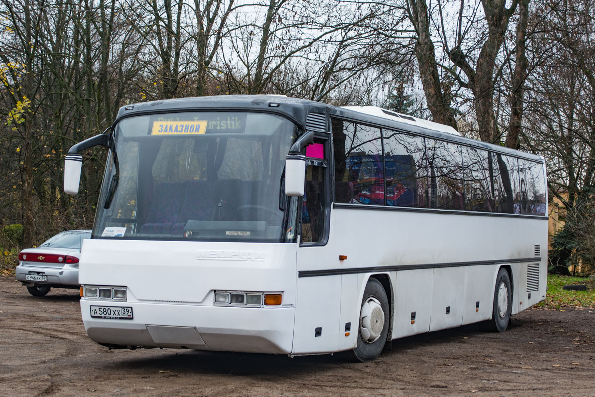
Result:
{"label": "dark bus seat behind windshield, right one of the adjoining pair", "polygon": [[186,195],[177,223],[171,229],[174,235],[184,232],[184,226],[189,220],[208,221],[215,211],[213,192],[214,182],[209,180],[190,180],[186,183]]}

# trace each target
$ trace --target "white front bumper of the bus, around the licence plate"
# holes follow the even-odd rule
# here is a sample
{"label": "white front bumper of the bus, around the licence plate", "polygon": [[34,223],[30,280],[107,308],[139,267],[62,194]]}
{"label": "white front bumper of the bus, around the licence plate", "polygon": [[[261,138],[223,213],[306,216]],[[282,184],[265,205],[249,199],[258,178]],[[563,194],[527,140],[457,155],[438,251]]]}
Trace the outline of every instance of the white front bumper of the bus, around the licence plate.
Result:
{"label": "white front bumper of the bus, around the licence plate", "polygon": [[[110,347],[290,354],[294,308],[237,308],[81,299],[84,327]],[[133,318],[91,317],[91,306],[128,307]]]}

